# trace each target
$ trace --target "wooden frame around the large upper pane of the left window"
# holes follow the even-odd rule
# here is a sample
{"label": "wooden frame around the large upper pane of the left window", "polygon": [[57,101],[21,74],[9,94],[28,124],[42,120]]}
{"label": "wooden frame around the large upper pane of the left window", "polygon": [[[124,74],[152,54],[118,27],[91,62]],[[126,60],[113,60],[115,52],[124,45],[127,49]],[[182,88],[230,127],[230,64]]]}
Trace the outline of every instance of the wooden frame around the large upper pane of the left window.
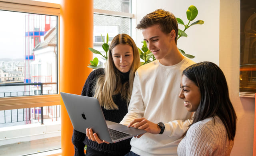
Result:
{"label": "wooden frame around the large upper pane of the left window", "polygon": [[[31,0],[0,0],[0,10],[28,12],[58,16],[58,92],[60,92],[60,4]],[[60,93],[52,95],[18,96],[0,98],[0,110],[60,105]]]}

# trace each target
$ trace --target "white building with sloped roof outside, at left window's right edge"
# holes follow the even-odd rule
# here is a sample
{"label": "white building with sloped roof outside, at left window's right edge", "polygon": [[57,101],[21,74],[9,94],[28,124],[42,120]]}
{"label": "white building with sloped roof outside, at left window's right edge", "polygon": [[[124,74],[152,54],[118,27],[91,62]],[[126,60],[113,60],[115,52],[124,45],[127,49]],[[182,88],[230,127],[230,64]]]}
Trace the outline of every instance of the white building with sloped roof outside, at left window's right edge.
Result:
{"label": "white building with sloped roof outside, at left window's right edge", "polygon": [[[30,64],[31,82],[57,82],[57,28],[51,28],[33,51],[35,60]],[[43,92],[57,93],[57,84],[45,85]]]}

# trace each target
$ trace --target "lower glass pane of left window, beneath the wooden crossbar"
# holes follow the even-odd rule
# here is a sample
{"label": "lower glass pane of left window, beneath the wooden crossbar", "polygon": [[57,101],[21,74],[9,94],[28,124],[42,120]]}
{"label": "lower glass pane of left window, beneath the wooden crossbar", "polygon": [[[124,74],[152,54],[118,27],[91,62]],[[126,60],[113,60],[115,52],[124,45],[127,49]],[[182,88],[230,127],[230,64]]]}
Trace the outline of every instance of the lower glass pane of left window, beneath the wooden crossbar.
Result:
{"label": "lower glass pane of left window, beneath the wooden crossbar", "polygon": [[0,155],[60,153],[60,135],[60,105],[0,110]]}

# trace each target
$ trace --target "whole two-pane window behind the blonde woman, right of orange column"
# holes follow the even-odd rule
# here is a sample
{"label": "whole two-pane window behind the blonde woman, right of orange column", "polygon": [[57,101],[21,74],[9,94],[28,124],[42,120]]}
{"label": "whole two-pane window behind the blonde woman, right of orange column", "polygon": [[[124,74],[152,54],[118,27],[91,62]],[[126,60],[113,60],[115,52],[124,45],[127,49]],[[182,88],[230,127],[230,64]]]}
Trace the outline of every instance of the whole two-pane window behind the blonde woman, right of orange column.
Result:
{"label": "whole two-pane window behind the blonde woman, right of orange column", "polygon": [[[108,44],[117,34],[124,33],[132,36],[132,21],[135,19],[130,13],[130,8],[130,0],[94,0],[94,49],[102,54],[105,53],[102,49],[102,37],[106,43],[107,34]],[[93,55],[99,59],[99,64],[104,64],[105,59],[102,56]]]}

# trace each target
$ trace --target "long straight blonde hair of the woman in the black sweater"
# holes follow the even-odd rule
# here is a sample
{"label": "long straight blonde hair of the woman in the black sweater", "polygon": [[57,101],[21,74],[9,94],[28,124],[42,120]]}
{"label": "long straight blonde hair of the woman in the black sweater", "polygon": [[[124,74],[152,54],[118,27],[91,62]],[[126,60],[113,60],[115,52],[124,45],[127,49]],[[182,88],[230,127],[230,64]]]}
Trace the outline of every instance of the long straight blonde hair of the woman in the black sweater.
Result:
{"label": "long straight blonde hair of the woman in the black sweater", "polygon": [[[122,84],[120,71],[114,65],[112,58],[112,50],[118,44],[127,44],[132,47],[133,62],[129,73],[129,82]],[[113,95],[121,94],[122,99],[126,99],[127,105],[130,102],[132,95],[132,86],[135,71],[140,66],[140,55],[134,40],[127,34],[116,35],[108,51],[108,60],[104,70],[104,75],[99,76],[96,84],[94,85],[94,98],[98,98],[100,106],[106,110],[118,109],[114,103]]]}

